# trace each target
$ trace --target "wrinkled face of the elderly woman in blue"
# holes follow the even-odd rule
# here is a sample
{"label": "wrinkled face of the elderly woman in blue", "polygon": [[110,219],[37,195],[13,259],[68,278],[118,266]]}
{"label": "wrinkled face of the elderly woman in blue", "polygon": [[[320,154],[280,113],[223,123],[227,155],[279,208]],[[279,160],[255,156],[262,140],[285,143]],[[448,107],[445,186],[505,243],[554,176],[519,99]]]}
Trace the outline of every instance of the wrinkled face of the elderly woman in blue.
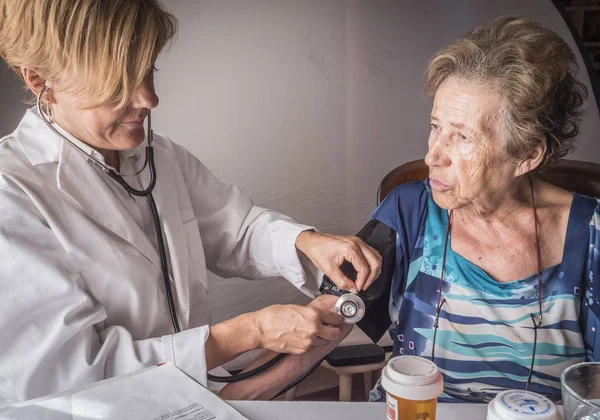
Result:
{"label": "wrinkled face of the elderly woman in blue", "polygon": [[492,82],[452,76],[436,91],[425,163],[440,207],[487,208],[513,186],[517,165],[503,153],[502,104]]}

